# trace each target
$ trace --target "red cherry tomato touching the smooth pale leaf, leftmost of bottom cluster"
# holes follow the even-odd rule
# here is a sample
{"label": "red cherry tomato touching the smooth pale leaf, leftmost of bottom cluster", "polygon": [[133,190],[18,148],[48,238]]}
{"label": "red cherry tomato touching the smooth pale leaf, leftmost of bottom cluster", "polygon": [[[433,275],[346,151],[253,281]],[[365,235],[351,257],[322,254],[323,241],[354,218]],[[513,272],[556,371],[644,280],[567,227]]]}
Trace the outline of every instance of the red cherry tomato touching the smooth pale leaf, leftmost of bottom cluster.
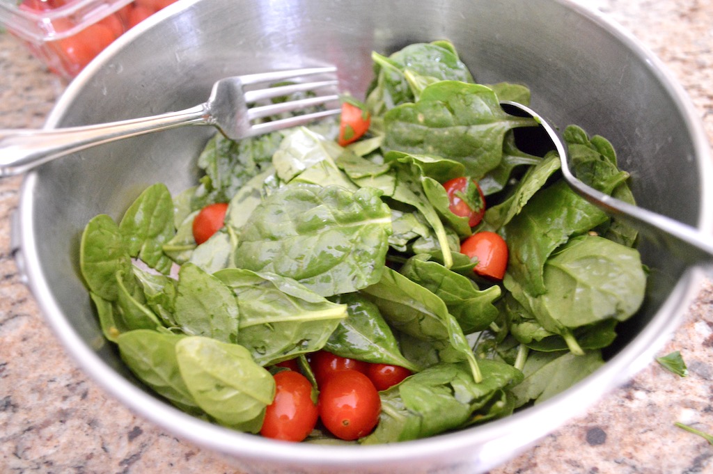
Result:
{"label": "red cherry tomato touching the smooth pale leaf, leftmost of bottom cluster", "polygon": [[275,398],[265,410],[260,434],[284,441],[302,441],[317,424],[319,412],[312,401],[312,383],[302,373],[275,373]]}

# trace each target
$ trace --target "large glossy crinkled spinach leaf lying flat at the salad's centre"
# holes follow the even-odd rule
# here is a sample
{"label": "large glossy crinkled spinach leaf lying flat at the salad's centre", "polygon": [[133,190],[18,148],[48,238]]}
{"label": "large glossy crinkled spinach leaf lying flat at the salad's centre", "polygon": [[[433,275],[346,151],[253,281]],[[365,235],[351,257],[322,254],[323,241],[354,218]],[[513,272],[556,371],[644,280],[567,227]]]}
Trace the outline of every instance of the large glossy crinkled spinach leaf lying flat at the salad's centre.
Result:
{"label": "large glossy crinkled spinach leaf lying flat at the salad's centre", "polygon": [[391,234],[380,195],[373,188],[281,187],[243,227],[235,265],[296,279],[325,297],[378,282]]}

